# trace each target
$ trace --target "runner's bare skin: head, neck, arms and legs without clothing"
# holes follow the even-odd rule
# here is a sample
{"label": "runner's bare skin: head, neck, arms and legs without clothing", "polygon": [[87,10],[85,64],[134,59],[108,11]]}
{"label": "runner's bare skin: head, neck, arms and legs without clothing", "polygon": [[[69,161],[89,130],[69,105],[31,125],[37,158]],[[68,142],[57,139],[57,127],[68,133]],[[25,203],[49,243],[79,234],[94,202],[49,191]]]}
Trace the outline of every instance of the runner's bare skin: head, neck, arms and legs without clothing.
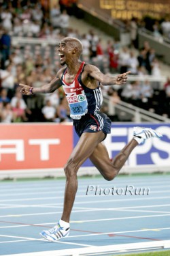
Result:
{"label": "runner's bare skin: head, neck, arms and legs without clothing", "polygon": [[[82,65],[82,61],[80,60],[81,53],[82,43],[77,38],[64,38],[58,46],[58,54],[61,57],[61,65],[67,66],[65,82],[68,84],[75,79],[75,76]],[[52,79],[50,83],[39,88],[31,89],[29,85],[20,84],[20,91],[25,95],[30,95],[31,93],[52,93],[61,87],[61,76],[63,75],[64,70],[65,67],[58,70],[56,77]],[[113,77],[108,74],[103,74],[95,66],[86,64],[82,72],[82,83],[90,89],[96,89],[99,86],[99,83],[102,85],[124,85],[127,81],[127,75],[129,73],[130,72],[126,72]],[[106,180],[112,180],[114,177],[116,177],[132,150],[138,145],[137,141],[132,139],[120,151],[114,160],[110,161],[107,149],[101,142],[103,139],[105,139],[105,134],[102,130],[99,132],[82,133],[78,144],[75,146],[64,167],[66,186],[63,215],[61,216],[61,219],[67,223],[69,223],[73,202],[75,200],[75,194],[78,189],[77,172],[82,163],[87,158],[90,158],[95,167],[97,167],[97,169],[100,171],[101,175],[103,175]]]}

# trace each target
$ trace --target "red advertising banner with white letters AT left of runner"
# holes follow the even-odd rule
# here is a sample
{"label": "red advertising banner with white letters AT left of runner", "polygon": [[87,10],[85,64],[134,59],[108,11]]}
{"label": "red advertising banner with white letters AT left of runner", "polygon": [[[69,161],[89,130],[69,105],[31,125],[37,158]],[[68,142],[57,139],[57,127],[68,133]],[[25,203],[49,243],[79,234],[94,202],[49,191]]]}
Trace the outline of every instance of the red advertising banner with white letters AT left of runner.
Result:
{"label": "red advertising banner with white letters AT left of runner", "polygon": [[0,125],[1,170],[62,168],[73,149],[67,124]]}

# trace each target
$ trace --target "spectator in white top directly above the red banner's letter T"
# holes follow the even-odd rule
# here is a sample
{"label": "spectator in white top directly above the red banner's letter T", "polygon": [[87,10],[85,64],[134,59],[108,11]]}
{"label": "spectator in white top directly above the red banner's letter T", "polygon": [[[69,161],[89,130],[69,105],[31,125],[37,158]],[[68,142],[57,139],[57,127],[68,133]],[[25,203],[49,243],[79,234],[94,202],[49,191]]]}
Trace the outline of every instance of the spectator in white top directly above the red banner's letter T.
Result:
{"label": "spectator in white top directly above the red banner's letter T", "polygon": [[52,106],[50,100],[46,100],[46,105],[42,108],[42,113],[46,122],[54,122],[56,118],[56,109]]}

